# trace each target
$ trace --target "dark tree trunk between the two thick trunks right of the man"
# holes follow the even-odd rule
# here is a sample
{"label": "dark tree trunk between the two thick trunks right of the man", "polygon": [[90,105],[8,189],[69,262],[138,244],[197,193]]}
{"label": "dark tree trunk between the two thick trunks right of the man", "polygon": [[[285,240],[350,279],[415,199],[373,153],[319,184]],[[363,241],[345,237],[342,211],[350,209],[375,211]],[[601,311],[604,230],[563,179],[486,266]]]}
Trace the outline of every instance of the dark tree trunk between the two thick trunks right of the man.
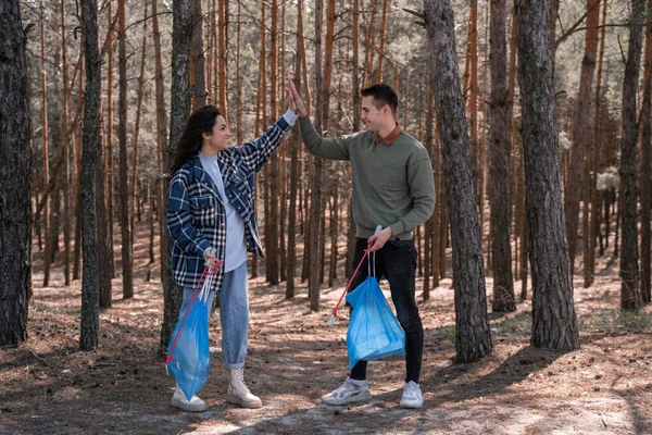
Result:
{"label": "dark tree trunk between the two thick trunks right of the man", "polygon": [[[505,40],[505,1],[491,2],[491,252],[494,312],[516,310],[510,240],[510,112],[507,89],[507,44]],[[486,116],[485,116],[486,117]]]}

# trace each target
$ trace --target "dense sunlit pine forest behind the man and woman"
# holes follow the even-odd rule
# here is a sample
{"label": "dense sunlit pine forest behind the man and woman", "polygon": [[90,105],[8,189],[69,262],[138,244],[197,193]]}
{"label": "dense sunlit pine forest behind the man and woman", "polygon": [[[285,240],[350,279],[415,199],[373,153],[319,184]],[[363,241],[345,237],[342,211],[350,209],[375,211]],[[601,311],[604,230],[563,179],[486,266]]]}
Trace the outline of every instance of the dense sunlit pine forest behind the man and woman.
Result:
{"label": "dense sunlit pine forest behind the man and woman", "polygon": [[[43,328],[58,326],[43,323],[43,315],[63,303],[64,311],[75,307],[74,312],[65,313],[66,320],[58,320],[67,325],[65,340],[77,341],[73,346],[82,349],[97,349],[100,358],[112,364],[111,359],[120,350],[110,341],[125,337],[113,331],[115,319],[120,323],[121,318],[128,318],[121,310],[155,310],[156,315],[143,318],[148,319],[145,325],[138,323],[147,330],[141,332],[141,339],[148,343],[146,352],[151,360],[134,357],[138,362],[131,361],[138,366],[153,364],[154,350],[160,353],[166,348],[180,304],[179,289],[168,270],[166,172],[175,137],[189,111],[204,104],[217,105],[226,112],[235,142],[241,145],[258,137],[285,112],[285,77],[291,77],[317,129],[324,136],[341,136],[361,128],[359,89],[386,82],[399,94],[398,120],[402,128],[427,147],[432,161],[436,210],[415,232],[419,252],[417,297],[421,309],[431,314],[430,337],[450,341],[450,346],[431,351],[441,351],[443,358],[462,363],[488,357],[486,364],[506,364],[514,359],[516,364],[528,365],[528,361],[542,358],[542,368],[532,369],[528,372],[531,374],[562,360],[549,353],[521,353],[528,343],[553,351],[577,350],[581,344],[588,349],[582,352],[593,352],[604,349],[597,347],[595,334],[615,332],[635,338],[604,346],[622,349],[625,360],[634,358],[637,364],[641,361],[641,369],[631,377],[634,389],[625,388],[634,390],[627,397],[634,400],[650,389],[644,381],[650,360],[635,353],[644,343],[639,350],[644,355],[649,349],[652,326],[652,1],[547,2],[544,30],[550,51],[546,51],[546,59],[550,59],[553,89],[547,119],[554,120],[554,128],[541,127],[541,135],[531,134],[537,130],[531,113],[537,105],[544,110],[547,102],[535,101],[534,109],[528,109],[526,101],[538,98],[537,89],[541,88],[537,86],[548,86],[549,70],[539,64],[540,76],[525,73],[526,62],[535,58],[536,51],[526,51],[526,45],[519,42],[527,35],[525,30],[519,33],[517,23],[528,23],[527,15],[534,20],[536,14],[524,7],[522,11],[526,11],[519,15],[518,7],[511,1],[450,0],[454,22],[441,18],[441,23],[431,11],[448,11],[448,1],[16,3],[25,34],[32,120],[26,187],[33,220],[33,264],[28,272],[33,284],[28,286],[29,295],[21,299],[25,306],[29,300],[29,323],[20,319],[12,323],[12,315],[27,318],[26,308],[14,310],[16,298],[7,297],[12,303],[0,308],[0,312],[16,311],[5,321],[0,320],[0,330],[4,331],[0,334],[1,345],[46,339]],[[91,77],[99,80],[92,83],[85,58],[85,39],[92,27],[91,21],[85,21],[89,15],[84,8],[88,4],[97,10],[99,61],[93,64]],[[441,42],[449,24],[454,45]],[[536,26],[529,26],[528,32],[530,28]],[[9,35],[10,30],[5,32]],[[454,49],[451,59],[455,65],[436,61],[441,59],[437,54],[447,49]],[[447,72],[459,77],[459,92],[438,85]],[[95,124],[88,125],[97,127],[99,141],[85,142],[85,111],[90,95],[87,86],[92,84],[97,95],[91,99],[97,103],[93,108],[98,116]],[[447,99],[449,91],[452,100]],[[455,121],[463,123],[463,129],[455,129],[455,123],[447,121],[455,109],[447,104],[456,98],[464,116]],[[530,115],[526,115],[528,111]],[[540,150],[544,146],[528,139],[535,136],[552,147],[552,160],[542,160],[544,152]],[[97,172],[88,172],[85,177],[83,157],[91,149]],[[462,156],[464,164],[454,164],[460,162],[456,156]],[[528,178],[528,174],[536,173],[557,179],[560,195],[554,186],[537,185],[535,175]],[[466,175],[468,178],[464,178]],[[464,185],[463,179],[471,183]],[[90,188],[95,195],[90,203],[95,204],[96,216],[88,220],[84,191],[93,185],[97,187]],[[264,325],[273,323],[274,315],[285,319],[279,326],[284,334],[292,334],[290,323],[296,313],[305,315],[306,323],[301,326],[305,336],[301,339],[314,340],[315,325],[322,321],[325,324],[324,312],[331,309],[334,298],[346,286],[355,233],[349,165],[308,154],[294,128],[256,178],[256,208],[267,258],[250,258],[254,288],[251,298],[252,307],[268,318],[262,321],[264,314],[260,314],[259,330],[255,322],[252,325],[252,355],[256,352],[255,335],[265,336],[268,331]],[[541,226],[543,221],[535,217],[541,216],[537,214],[541,210],[551,213],[546,221],[552,222],[549,226]],[[555,210],[561,214],[555,215]],[[97,236],[97,250],[90,257],[83,249],[85,228],[92,228],[90,232]],[[474,228],[479,229],[477,237]],[[543,246],[554,248],[547,251]],[[552,261],[554,258],[561,258],[561,265]],[[474,261],[479,263],[475,269]],[[276,299],[271,299],[267,291]],[[47,301],[53,294],[62,299],[50,306]],[[290,306],[275,306],[280,301]],[[512,347],[505,349],[503,341]],[[71,344],[63,348],[70,349]],[[138,353],[141,348],[123,350]],[[328,357],[330,349],[305,351],[311,353],[309,360],[318,363],[323,361],[318,359],[321,352]],[[51,352],[54,358],[57,351]],[[51,369],[54,363],[47,362],[50,357],[39,353],[42,357],[32,349],[16,353],[5,364],[7,377],[17,380],[10,371],[17,370],[30,355]],[[594,360],[593,353],[588,355],[587,361]],[[73,365],[85,363],[74,358],[66,361]],[[523,360],[526,363],[519,362]],[[615,368],[619,362],[610,364]],[[431,369],[441,373],[449,370]],[[459,370],[454,382],[467,382],[462,369],[450,370]],[[265,372],[262,368],[260,371]],[[518,370],[514,373],[518,381],[528,375]],[[599,375],[605,376],[602,373]],[[141,381],[151,386],[160,375],[148,372],[149,377]],[[109,377],[105,373],[98,376]],[[497,381],[505,388],[518,382],[505,376]],[[110,381],[98,381],[98,385],[105,382]],[[554,380],[547,382],[552,390]],[[439,381],[437,387],[444,388]],[[587,387],[573,386],[569,390],[574,388]],[[472,389],[456,394],[473,401],[468,398]],[[20,390],[16,384],[9,394]],[[311,390],[312,396],[318,397],[317,390]],[[430,400],[444,403],[440,396]],[[517,395],[514,400],[518,400]],[[539,409],[543,402],[529,405]],[[292,401],[290,408],[309,406]],[[513,412],[507,408],[505,414]],[[235,414],[227,420],[242,419],[246,417]],[[577,417],[572,423],[581,419]],[[652,424],[652,418],[640,411],[630,412],[630,420],[625,420],[613,417],[601,427],[606,430],[609,425],[613,433],[629,433],[631,428],[644,433]],[[286,423],[274,424],[281,427]],[[302,420],[300,424],[312,423]],[[277,428],[261,427],[272,432]]]}

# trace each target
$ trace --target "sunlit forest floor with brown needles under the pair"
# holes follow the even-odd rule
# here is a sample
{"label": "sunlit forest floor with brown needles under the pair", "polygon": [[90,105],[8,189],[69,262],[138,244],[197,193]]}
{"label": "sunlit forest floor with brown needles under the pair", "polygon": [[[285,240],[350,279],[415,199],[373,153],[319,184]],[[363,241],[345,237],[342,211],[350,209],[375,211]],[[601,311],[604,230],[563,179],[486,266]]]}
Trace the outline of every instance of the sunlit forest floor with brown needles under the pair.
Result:
{"label": "sunlit forest floor with brown needles under the pair", "polygon": [[[148,239],[145,225],[137,236]],[[122,299],[121,279],[113,281],[113,307],[101,312],[100,346],[91,352],[78,350],[80,281],[65,287],[58,260],[50,286],[43,288],[42,253],[35,245],[29,338],[17,348],[0,350],[0,433],[652,433],[652,307],[638,314],[618,310],[613,258],[599,260],[599,276],[590,288],[582,288],[581,265],[577,268],[581,349],[565,355],[529,346],[531,304],[525,301],[516,312],[490,314],[490,356],[456,364],[450,278],[427,302],[419,291],[425,327],[421,410],[398,407],[404,376],[401,358],[369,363],[369,402],[321,402],[348,371],[348,310],[340,311],[335,327],[326,326],[344,279],[323,290],[317,313],[309,310],[305,285],[298,286],[294,299],[286,300],[285,285],[252,279],[246,378],[263,408],[225,402],[227,374],[215,315],[212,373],[200,394],[209,409],[186,413],[170,406],[174,380],[156,356],[163,295],[155,278],[146,281],[143,244],[136,246],[135,296]],[[118,244],[115,249],[120,252]],[[159,276],[158,270],[152,272]],[[521,285],[515,287],[518,294]],[[490,296],[490,278],[487,291]]]}

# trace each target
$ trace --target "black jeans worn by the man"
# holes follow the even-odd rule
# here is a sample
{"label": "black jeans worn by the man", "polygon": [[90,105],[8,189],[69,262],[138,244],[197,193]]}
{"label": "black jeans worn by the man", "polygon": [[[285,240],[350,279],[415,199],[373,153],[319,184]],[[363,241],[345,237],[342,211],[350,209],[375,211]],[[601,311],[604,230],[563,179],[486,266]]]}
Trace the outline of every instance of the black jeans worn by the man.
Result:
{"label": "black jeans worn by the man", "polygon": [[[367,239],[358,238],[353,254],[353,271],[358,268],[366,247]],[[424,327],[414,298],[417,256],[414,240],[389,239],[375,253],[376,279],[380,282],[381,277],[387,278],[399,323],[405,332],[405,382],[414,381],[418,384],[422,356],[424,355]],[[369,256],[373,257],[373,253]],[[368,276],[369,256],[360,266],[351,284],[351,290],[355,289]],[[365,380],[366,365],[366,361],[359,361],[351,370],[350,377],[356,381]]]}

